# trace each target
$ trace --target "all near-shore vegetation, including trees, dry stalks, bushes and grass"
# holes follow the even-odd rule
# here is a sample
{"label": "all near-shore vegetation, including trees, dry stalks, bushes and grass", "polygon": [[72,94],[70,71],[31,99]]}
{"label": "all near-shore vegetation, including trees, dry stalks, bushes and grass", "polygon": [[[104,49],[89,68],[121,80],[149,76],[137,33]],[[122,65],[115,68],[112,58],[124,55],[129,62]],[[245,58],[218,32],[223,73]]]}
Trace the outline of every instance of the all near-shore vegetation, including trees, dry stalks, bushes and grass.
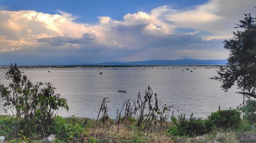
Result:
{"label": "all near-shore vegetation, including trees, dry stalks, bushes and grass", "polygon": [[239,25],[245,31],[224,42],[231,50],[229,64],[220,67],[220,77],[214,77],[223,82],[225,91],[237,82],[245,96],[237,109],[219,107],[206,119],[196,119],[193,113],[188,119],[182,114],[175,118],[169,111],[178,109],[163,105],[148,86],[144,96],[139,93],[136,100],[125,101],[115,120],[108,117],[109,98],[103,99],[97,120],[62,118],[55,111],[68,110],[67,100],[54,93],[51,83],[30,82],[15,64],[6,72],[9,86],[0,85],[5,109],[14,109],[13,116],[0,116],[0,135],[6,136],[6,142],[47,142],[50,134],[56,134],[52,142],[255,142],[254,20],[246,15]]}

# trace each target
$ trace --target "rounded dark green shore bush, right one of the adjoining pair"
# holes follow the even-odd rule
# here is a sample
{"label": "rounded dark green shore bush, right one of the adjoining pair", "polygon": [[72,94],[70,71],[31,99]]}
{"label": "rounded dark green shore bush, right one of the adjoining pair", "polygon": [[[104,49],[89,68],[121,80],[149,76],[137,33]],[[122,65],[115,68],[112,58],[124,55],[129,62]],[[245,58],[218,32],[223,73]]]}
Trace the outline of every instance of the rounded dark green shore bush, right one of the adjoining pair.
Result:
{"label": "rounded dark green shore bush, right one of the adjoining pair", "polygon": [[205,126],[208,131],[216,128],[236,129],[241,123],[240,112],[236,109],[218,110],[211,113],[205,121]]}

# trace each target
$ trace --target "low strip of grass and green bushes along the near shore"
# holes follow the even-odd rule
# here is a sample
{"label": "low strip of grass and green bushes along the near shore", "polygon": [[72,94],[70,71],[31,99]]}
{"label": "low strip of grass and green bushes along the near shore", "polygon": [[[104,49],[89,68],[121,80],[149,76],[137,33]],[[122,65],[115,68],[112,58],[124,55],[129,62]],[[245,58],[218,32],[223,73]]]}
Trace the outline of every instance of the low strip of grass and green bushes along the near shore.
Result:
{"label": "low strip of grass and green bushes along the near shore", "polygon": [[[223,113],[225,117],[229,117],[222,117]],[[102,122],[99,122],[95,128],[96,120],[94,119],[57,116],[54,118],[52,133],[56,134],[54,142],[246,142],[243,141],[246,136],[256,137],[255,123],[242,120],[237,115],[236,109],[218,110],[205,120],[173,119],[176,121],[165,122],[165,127],[161,130],[157,130],[160,124],[155,126],[156,130],[138,128],[136,120],[131,122],[130,129],[127,128],[126,123],[117,125],[113,119],[105,121],[104,129]],[[220,119],[224,119],[224,121]],[[209,122],[216,123],[211,126]],[[223,128],[222,125],[230,125],[230,127]],[[209,129],[207,126],[212,128]],[[6,136],[6,142],[42,142],[46,140],[37,133],[33,133],[30,137],[25,136],[23,130],[20,130],[14,137],[14,129],[14,117],[0,116],[0,134]],[[247,142],[249,142],[249,138]]]}

